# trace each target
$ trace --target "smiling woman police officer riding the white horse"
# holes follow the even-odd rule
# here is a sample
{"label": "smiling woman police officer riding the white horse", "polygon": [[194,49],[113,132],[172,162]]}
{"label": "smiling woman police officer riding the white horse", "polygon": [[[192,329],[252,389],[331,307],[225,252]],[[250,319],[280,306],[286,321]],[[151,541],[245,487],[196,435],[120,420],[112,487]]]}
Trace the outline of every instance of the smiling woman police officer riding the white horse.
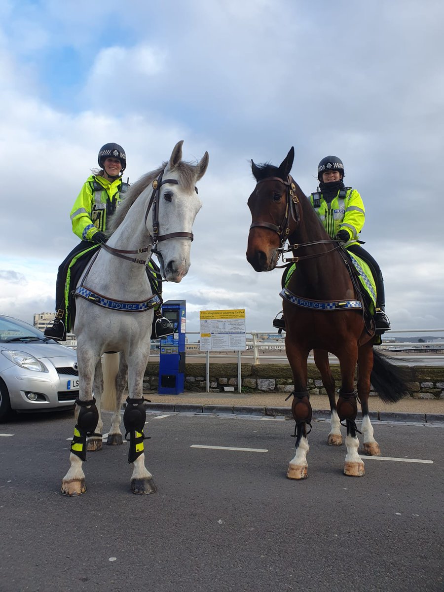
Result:
{"label": "smiling woman police officer riding the white horse", "polygon": [[[102,146],[98,154],[98,163],[100,170],[96,172],[93,170],[93,174],[86,179],[70,213],[73,233],[81,239],[81,243],[74,247],[59,266],[56,283],[56,318],[52,326],[46,327],[44,331],[44,334],[52,339],[62,341],[66,339],[65,284],[70,265],[76,256],[80,257],[81,253],[91,250],[94,245],[107,242],[108,221],[128,189],[128,184],[122,180],[122,174],[127,166],[127,157],[120,144],[108,143]],[[156,275],[159,269],[154,268],[153,265],[151,271],[151,275]],[[160,291],[157,289],[157,292]],[[160,316],[160,311],[157,311],[153,321],[153,339],[172,333],[171,324],[165,321],[166,319]]]}

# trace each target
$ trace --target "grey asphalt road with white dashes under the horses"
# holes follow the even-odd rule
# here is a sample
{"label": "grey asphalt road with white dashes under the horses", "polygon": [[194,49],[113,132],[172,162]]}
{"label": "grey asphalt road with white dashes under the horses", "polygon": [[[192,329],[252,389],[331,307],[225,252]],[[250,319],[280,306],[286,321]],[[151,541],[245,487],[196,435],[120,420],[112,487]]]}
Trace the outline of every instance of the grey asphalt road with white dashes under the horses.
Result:
{"label": "grey asphalt road with white dashes under the horses", "polygon": [[314,422],[301,482],[293,426],[149,414],[157,493],[130,493],[124,444],[88,453],[88,491],[66,498],[72,413],[2,424],[0,591],[442,592],[443,424],[378,424],[382,455],[433,464],[367,459],[350,478]]}

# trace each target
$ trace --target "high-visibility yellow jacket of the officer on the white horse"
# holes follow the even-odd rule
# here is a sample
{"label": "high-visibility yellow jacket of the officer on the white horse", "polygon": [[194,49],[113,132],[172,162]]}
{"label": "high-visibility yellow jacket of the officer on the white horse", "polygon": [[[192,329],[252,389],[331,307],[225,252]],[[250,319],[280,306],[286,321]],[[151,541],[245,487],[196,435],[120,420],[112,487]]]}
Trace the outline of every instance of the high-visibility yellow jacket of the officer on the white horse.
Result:
{"label": "high-visibility yellow jacket of the officer on the white horse", "polygon": [[79,239],[91,240],[96,232],[105,232],[107,218],[114,214],[127,187],[121,177],[108,181],[104,177],[89,176],[70,213],[73,233]]}

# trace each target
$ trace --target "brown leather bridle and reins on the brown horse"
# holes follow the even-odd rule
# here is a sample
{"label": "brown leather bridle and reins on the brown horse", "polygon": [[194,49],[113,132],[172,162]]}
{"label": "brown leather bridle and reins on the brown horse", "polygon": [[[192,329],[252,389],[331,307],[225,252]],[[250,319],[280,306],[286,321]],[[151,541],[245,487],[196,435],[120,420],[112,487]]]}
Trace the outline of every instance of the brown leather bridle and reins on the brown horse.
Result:
{"label": "brown leather bridle and reins on the brown horse", "polygon": [[[291,178],[291,176],[288,175],[287,181],[284,181],[284,179],[281,179],[280,177],[266,177],[265,179],[261,179],[260,181],[258,181],[256,186],[259,185],[260,183],[265,182],[265,181],[279,181],[280,183],[285,185],[285,187],[287,188],[287,198],[286,198],[286,202],[285,202],[284,217],[282,218],[282,221],[279,224],[279,226],[277,224],[272,224],[270,222],[259,221],[259,222],[253,222],[250,226],[250,230],[252,228],[266,228],[269,230],[273,230],[274,232],[276,232],[279,235],[279,239],[281,240],[282,246],[276,250],[279,251],[279,257],[282,257],[282,262],[284,262],[285,265],[276,265],[277,269],[282,268],[282,267],[286,267],[287,263],[297,263],[298,261],[300,261],[302,259],[313,259],[316,257],[320,257],[321,255],[327,255],[327,253],[331,253],[332,251],[340,249],[342,247],[342,243],[340,243],[339,241],[334,240],[334,239],[327,239],[327,240],[314,240],[309,243],[289,244],[288,249],[285,249],[285,242],[287,242],[287,240],[289,241],[289,233],[290,233],[289,220],[290,220],[290,217],[297,224],[301,221],[300,202],[299,202],[299,198],[296,194],[296,185],[295,185],[293,179]],[[310,246],[313,246],[314,244],[326,244],[326,243],[327,244],[334,243],[334,247],[328,251],[323,251],[321,253],[312,253],[311,255],[301,255],[298,257],[284,258],[284,253],[294,252],[294,250],[301,249],[302,247],[310,247]]]}

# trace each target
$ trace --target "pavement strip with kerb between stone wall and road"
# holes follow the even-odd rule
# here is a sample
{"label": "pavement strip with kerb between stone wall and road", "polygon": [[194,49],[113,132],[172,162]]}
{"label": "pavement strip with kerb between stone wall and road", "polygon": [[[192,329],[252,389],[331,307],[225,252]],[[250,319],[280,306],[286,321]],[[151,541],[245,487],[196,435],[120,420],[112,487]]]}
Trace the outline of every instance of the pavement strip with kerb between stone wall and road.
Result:
{"label": "pavement strip with kerb between stone wall and road", "polygon": [[[262,416],[291,417],[291,399],[285,401],[284,392],[184,392],[179,395],[160,395],[156,391],[144,392],[147,410],[174,411],[176,413],[234,413]],[[313,417],[330,417],[327,395],[311,395]],[[372,420],[388,422],[444,423],[444,398],[414,399],[406,397],[397,403],[383,403],[379,397],[369,399]],[[359,410],[359,404],[358,404]],[[358,411],[358,419],[361,411]]]}

